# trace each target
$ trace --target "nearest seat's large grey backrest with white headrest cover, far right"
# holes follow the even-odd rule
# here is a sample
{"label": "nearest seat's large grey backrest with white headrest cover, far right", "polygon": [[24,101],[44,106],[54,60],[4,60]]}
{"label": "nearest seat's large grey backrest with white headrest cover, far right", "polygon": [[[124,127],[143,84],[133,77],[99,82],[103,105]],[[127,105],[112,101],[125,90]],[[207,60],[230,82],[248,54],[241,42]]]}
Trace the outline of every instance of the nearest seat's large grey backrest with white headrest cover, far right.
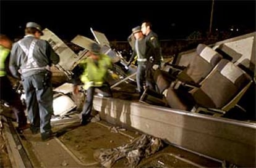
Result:
{"label": "nearest seat's large grey backrest with white headrest cover, far right", "polygon": [[252,78],[229,60],[222,59],[190,93],[199,106],[228,111],[233,108],[252,84]]}

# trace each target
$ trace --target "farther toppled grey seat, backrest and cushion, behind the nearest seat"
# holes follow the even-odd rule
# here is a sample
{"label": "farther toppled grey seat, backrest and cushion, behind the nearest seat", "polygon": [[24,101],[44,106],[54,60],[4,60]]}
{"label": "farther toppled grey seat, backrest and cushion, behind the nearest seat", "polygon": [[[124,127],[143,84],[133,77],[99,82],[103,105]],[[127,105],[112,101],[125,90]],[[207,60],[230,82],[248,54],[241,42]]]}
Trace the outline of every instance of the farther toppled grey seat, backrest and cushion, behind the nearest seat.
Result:
{"label": "farther toppled grey seat, backrest and cushion, behind the nearest seat", "polygon": [[187,65],[186,69],[178,74],[168,74],[163,70],[155,71],[154,81],[160,93],[167,89],[171,82],[174,82],[176,79],[198,84],[223,58],[218,52],[205,44],[198,44],[196,52],[197,54],[193,55],[194,58]]}

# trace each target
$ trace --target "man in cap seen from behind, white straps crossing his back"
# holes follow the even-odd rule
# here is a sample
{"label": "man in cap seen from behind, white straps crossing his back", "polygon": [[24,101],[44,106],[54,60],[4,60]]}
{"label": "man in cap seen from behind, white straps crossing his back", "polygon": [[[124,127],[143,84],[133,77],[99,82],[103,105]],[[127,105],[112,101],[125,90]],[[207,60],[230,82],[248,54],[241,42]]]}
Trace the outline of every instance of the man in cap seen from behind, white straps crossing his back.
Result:
{"label": "man in cap seen from behind, white straps crossing his back", "polygon": [[9,68],[15,78],[22,79],[26,95],[28,119],[32,134],[41,132],[43,141],[52,137],[53,87],[50,66],[59,63],[59,55],[43,35],[38,23],[28,22],[25,36],[14,43]]}

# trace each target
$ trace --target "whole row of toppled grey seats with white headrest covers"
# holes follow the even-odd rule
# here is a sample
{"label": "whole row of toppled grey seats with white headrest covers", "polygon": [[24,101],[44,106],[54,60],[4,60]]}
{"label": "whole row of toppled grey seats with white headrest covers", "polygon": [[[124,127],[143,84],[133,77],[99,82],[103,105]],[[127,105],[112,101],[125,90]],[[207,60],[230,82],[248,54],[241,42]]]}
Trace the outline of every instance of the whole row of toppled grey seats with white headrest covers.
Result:
{"label": "whole row of toppled grey seats with white headrest covers", "polygon": [[215,50],[199,44],[184,70],[156,70],[154,81],[171,108],[224,114],[231,110],[252,84],[252,78]]}

